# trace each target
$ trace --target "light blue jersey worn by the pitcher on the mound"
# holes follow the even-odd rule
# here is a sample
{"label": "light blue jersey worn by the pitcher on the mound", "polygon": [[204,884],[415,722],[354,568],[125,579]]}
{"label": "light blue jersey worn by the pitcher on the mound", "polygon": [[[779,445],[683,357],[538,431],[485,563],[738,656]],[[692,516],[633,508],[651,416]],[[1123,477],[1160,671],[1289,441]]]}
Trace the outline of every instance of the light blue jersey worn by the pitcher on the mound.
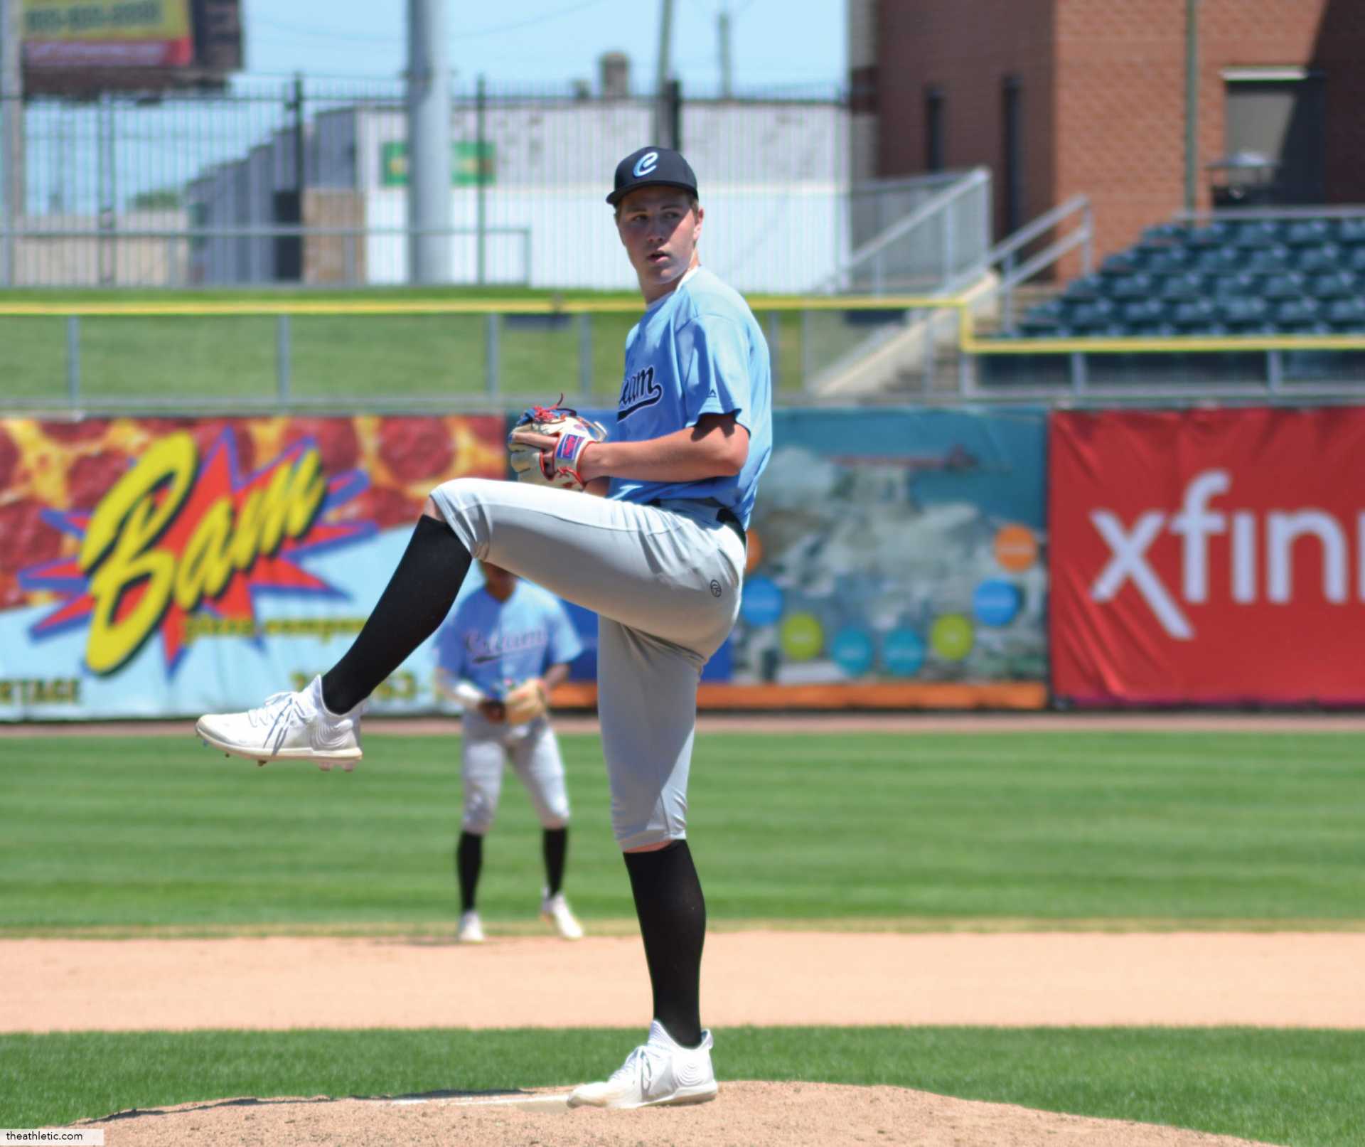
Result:
{"label": "light blue jersey worn by the pitcher on the mound", "polygon": [[698,268],[644,313],[625,339],[625,380],[614,442],[662,438],[703,414],[734,414],[749,456],[733,478],[635,482],[613,478],[607,497],[629,502],[711,498],[749,524],[759,475],[773,452],[773,369],[767,339],[737,291]]}

